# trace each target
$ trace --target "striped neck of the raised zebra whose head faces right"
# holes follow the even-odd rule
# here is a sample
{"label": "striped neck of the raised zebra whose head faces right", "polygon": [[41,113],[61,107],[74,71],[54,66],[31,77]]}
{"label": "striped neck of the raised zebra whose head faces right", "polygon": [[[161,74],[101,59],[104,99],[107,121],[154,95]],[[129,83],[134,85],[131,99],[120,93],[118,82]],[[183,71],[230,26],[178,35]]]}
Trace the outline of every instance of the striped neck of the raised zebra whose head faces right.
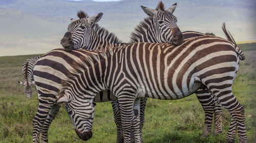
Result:
{"label": "striped neck of the raised zebra whose head faces right", "polygon": [[144,21],[141,21],[135,28],[135,32],[131,34],[129,43],[136,42],[159,43],[154,32],[153,18],[145,18]]}

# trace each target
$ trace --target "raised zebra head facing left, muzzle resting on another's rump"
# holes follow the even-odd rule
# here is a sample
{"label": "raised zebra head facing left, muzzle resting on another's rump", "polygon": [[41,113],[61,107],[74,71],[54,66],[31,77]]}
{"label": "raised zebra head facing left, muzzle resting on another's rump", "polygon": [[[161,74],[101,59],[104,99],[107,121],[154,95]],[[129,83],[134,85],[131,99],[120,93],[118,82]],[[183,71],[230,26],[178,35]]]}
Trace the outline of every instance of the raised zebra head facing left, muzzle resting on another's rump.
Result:
{"label": "raised zebra head facing left, muzzle resting on another's rump", "polygon": [[98,13],[94,16],[88,16],[83,11],[79,11],[77,16],[79,19],[71,19],[71,23],[68,26],[68,32],[61,39],[60,44],[67,50],[85,48],[93,39],[95,31],[93,24],[97,23],[103,13]]}

